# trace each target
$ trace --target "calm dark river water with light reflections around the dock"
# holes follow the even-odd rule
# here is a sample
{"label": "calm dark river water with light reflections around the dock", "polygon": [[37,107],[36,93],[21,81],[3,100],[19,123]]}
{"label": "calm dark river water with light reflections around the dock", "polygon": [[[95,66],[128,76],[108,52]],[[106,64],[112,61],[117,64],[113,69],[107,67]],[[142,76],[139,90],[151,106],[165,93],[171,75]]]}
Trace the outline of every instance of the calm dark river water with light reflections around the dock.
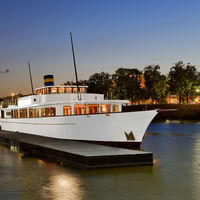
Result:
{"label": "calm dark river water with light reflections around the dock", "polygon": [[147,132],[152,167],[62,167],[0,145],[0,200],[199,199],[200,123],[153,123]]}

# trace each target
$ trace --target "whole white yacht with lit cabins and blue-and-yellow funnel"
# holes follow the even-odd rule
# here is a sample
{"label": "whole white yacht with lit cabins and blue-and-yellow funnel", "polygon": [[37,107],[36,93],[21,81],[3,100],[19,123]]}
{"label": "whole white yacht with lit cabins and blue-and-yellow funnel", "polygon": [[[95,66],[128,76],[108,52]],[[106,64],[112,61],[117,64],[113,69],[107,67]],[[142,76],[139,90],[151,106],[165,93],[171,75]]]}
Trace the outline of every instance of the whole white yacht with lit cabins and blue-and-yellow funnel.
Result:
{"label": "whole white yacht with lit cabins and blue-and-yellow funnel", "polygon": [[[49,78],[51,77],[51,78]],[[0,107],[0,128],[51,138],[139,148],[156,110],[122,112],[127,100],[105,100],[87,93],[87,86],[45,86],[35,95],[18,99],[17,105]]]}

